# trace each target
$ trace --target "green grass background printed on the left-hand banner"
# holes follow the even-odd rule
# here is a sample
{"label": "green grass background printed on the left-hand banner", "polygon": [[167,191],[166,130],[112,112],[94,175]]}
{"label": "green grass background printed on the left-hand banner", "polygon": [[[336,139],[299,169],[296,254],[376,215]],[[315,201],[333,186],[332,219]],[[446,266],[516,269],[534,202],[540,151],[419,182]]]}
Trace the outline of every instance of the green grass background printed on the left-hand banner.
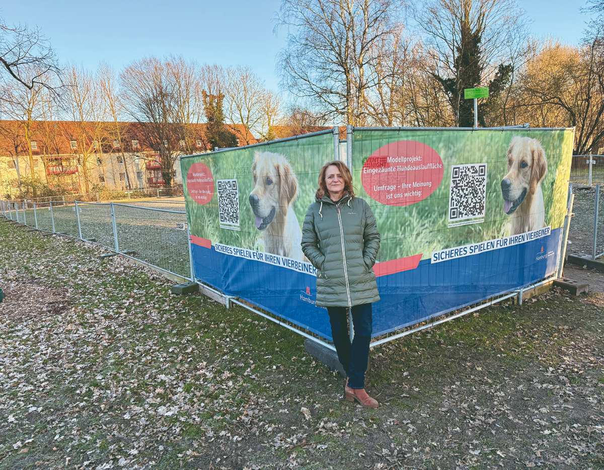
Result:
{"label": "green grass background printed on the left-hand banner", "polygon": [[[262,251],[260,231],[255,228],[254,215],[248,197],[253,188],[251,166],[256,152],[274,152],[286,156],[298,178],[298,197],[294,202],[295,214],[300,222],[309,205],[315,200],[318,173],[324,163],[333,160],[333,134],[278,142],[245,149],[228,150],[216,154],[196,155],[182,160],[184,195],[191,234],[210,239],[212,243],[239,246]],[[214,178],[214,196],[208,204],[201,205],[188,195],[186,175],[193,163],[203,162]],[[217,179],[236,178],[239,185],[240,230],[220,227],[218,216]]]}

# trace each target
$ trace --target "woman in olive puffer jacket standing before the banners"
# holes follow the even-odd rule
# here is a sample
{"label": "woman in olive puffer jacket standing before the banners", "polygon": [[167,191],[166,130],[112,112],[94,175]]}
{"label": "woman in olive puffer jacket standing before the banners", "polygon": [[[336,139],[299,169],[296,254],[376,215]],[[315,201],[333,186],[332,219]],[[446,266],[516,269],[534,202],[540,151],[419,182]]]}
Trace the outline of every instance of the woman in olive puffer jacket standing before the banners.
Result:
{"label": "woman in olive puffer jacket standing before the banners", "polygon": [[[367,202],[355,197],[350,170],[341,161],[323,166],[315,199],[304,219],[301,245],[317,269],[316,304],[327,307],[333,344],[347,375],[344,398],[377,408],[365,391],[371,303],[379,300],[372,270],[380,241],[376,221]],[[349,307],[352,344],[346,324]]]}

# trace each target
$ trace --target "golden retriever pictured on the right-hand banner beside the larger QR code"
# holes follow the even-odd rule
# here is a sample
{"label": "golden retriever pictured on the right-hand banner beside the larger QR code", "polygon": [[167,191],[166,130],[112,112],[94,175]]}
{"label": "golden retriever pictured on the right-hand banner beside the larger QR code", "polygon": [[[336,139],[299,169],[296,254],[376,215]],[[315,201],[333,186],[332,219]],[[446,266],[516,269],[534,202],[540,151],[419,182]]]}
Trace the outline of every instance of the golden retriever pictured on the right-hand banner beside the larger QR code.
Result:
{"label": "golden retriever pictured on the right-hand banner beside the larger QR code", "polygon": [[507,175],[501,180],[503,210],[510,216],[510,234],[545,227],[541,181],[547,160],[541,143],[530,137],[512,138],[507,149]]}

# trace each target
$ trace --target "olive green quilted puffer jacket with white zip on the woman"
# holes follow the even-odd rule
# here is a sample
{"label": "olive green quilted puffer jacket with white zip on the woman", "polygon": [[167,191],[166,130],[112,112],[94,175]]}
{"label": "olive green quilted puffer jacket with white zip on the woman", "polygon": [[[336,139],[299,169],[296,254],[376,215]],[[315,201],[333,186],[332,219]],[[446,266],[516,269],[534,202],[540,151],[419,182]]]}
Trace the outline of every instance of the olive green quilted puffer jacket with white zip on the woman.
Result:
{"label": "olive green quilted puffer jacket with white zip on the woman", "polygon": [[329,196],[310,204],[302,227],[302,251],[317,269],[316,304],[352,307],[376,302],[373,272],[380,236],[371,208],[361,198]]}

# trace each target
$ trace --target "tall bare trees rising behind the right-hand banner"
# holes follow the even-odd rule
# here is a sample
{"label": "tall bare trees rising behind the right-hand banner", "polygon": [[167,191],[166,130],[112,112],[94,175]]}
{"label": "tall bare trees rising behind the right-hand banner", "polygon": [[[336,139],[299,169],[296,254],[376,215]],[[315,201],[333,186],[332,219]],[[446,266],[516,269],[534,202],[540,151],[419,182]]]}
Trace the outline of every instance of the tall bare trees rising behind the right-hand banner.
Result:
{"label": "tall bare trees rising behind the right-hand banner", "polygon": [[[577,6],[577,8],[579,8]],[[515,0],[283,0],[283,85],[312,120],[471,127],[463,90],[489,86],[480,126],[576,127],[604,147],[604,1],[577,46],[534,39]]]}

